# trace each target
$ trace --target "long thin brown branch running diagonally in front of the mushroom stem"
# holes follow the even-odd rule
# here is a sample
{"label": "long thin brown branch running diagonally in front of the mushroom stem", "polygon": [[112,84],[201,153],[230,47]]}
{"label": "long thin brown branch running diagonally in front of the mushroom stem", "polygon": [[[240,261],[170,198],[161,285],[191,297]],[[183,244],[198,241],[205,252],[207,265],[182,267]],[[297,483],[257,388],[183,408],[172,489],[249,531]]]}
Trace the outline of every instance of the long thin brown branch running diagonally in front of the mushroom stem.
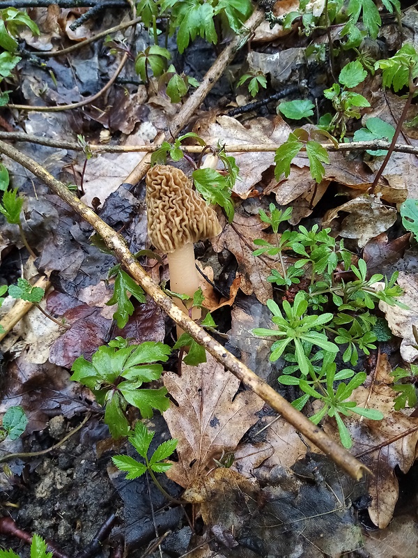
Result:
{"label": "long thin brown branch running diagonally in front of the mushroom stem", "polygon": [[195,324],[184,312],[182,312],[173,301],[162,292],[160,287],[155,285],[150,276],[139,265],[137,259],[128,250],[123,236],[116,233],[114,229],[104,223],[92,209],[81,202],[70,190],[49,174],[39,163],[20,153],[13,146],[0,141],[0,152],[20,163],[23,167],[35,174],[49,188],[59,195],[74,211],[76,211],[87,223],[95,229],[106,243],[107,247],[113,250],[119,261],[130,275],[139,282],[139,285],[148,293],[164,312],[171,317],[184,331],[187,331],[192,338],[206,349],[215,359],[225,368],[230,370],[233,375],[249,387],[254,393],[259,395],[272,409],[281,413],[286,420],[291,423],[302,435],[306,436],[313,444],[318,446],[326,455],[329,455],[342,469],[354,478],[361,478],[364,470],[367,470],[362,463],[357,461],[346,449],[327,437],[325,432],[317,425],[314,425],[301,412],[286,401],[277,391],[263,382],[252,370],[233,356],[225,347],[222,347],[198,324]]}

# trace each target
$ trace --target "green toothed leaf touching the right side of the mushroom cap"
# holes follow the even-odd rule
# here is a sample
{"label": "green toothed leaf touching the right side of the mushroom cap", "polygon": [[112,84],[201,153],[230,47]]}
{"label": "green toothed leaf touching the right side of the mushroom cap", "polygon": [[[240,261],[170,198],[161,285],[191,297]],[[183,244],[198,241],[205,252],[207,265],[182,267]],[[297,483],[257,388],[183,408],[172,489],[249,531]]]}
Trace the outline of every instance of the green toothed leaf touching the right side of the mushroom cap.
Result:
{"label": "green toothed leaf touching the right side of the mushroom cap", "polygon": [[231,189],[225,176],[215,169],[197,169],[192,173],[194,186],[204,199],[210,204],[223,207],[229,223],[233,220],[233,203]]}

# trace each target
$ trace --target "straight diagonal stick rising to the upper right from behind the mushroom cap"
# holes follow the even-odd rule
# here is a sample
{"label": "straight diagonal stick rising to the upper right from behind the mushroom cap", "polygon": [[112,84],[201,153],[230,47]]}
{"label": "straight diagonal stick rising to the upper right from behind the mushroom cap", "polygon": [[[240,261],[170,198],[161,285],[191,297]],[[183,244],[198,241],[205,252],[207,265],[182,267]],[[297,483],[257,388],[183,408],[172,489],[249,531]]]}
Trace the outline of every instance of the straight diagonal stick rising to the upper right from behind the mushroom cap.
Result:
{"label": "straight diagonal stick rising to the upper right from behind the mushroom cap", "polygon": [[[170,141],[171,136],[176,136],[180,131],[189,123],[189,120],[192,118],[194,112],[197,108],[203,103],[203,100],[208,95],[210,89],[215,85],[219,77],[224,73],[226,66],[228,66],[229,62],[235,56],[235,52],[237,52],[240,47],[247,43],[247,40],[251,36],[251,33],[258,27],[258,25],[263,21],[264,13],[262,10],[255,10],[254,13],[251,15],[249,20],[245,22],[245,28],[247,31],[245,35],[236,36],[228,46],[224,48],[221,54],[215,60],[215,63],[212,65],[210,70],[206,73],[205,77],[199,87],[194,91],[192,96],[190,96],[183,107],[181,108],[180,112],[174,118],[173,123],[170,126],[169,133],[159,133],[157,137],[155,137],[154,145],[158,146],[161,145],[164,140]],[[134,168],[134,170],[127,176],[125,183],[129,184],[136,184],[142,178],[144,178],[146,172],[150,168],[150,158],[148,154],[141,159],[139,164]]]}

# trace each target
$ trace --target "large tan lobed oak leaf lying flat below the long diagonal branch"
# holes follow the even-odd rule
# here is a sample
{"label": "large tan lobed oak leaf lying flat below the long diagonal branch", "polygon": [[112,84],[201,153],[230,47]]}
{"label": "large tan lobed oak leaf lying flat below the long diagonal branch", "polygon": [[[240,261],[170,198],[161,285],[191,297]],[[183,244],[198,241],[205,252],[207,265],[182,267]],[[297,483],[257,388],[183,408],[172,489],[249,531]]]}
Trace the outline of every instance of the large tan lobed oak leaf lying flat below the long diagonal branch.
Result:
{"label": "large tan lobed oak leaf lying flat below the long diagonal branch", "polygon": [[183,364],[182,375],[164,375],[164,386],[177,405],[164,412],[171,436],[178,439],[178,462],[167,472],[183,487],[215,464],[222,451],[234,451],[258,421],[263,400],[251,391],[235,396],[240,381],[210,354],[199,366]]}

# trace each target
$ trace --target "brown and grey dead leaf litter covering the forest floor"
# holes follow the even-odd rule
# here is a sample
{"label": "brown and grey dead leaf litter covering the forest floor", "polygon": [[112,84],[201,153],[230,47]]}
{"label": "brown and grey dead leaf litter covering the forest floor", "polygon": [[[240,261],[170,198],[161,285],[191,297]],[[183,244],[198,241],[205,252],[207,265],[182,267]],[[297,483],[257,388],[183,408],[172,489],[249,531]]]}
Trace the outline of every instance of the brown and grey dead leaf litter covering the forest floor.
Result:
{"label": "brown and grey dead leaf litter covering the forest floor", "polygon": [[[297,9],[293,3],[276,4],[281,5],[273,6],[276,16]],[[320,11],[321,8],[316,6],[315,9]],[[49,7],[47,10],[36,8],[30,13],[40,24],[42,33],[36,37],[26,32],[22,33],[22,38],[27,45],[40,52],[55,49],[57,40],[69,44],[68,41],[79,41],[93,34],[91,24],[82,25],[77,31],[70,30],[70,23],[81,13],[79,10]],[[118,23],[107,10],[105,14],[100,29]],[[280,24],[272,27],[273,36],[269,27],[267,22],[263,22],[256,32],[256,40],[271,41],[273,37],[286,40],[287,31]],[[147,33],[141,31],[138,43],[146,45],[146,40]],[[254,71],[263,66],[265,73],[270,75],[273,88],[277,89],[280,82],[275,80],[295,80],[295,76],[300,77],[306,72],[300,59],[302,50],[293,46],[272,54],[252,50],[247,63]],[[49,73],[41,67],[33,69],[27,60],[22,61],[20,80],[24,102],[38,105],[72,103],[83,95],[98,91],[101,76],[108,79],[116,68],[116,61],[111,59],[109,63],[109,57],[102,59],[102,55],[93,48],[87,58],[80,52],[72,54],[71,67],[63,64],[61,59],[49,59]],[[273,66],[277,65],[274,57],[279,58],[282,64],[275,68],[276,74],[273,71]],[[286,70],[286,75],[279,70]],[[283,75],[279,76],[278,72]],[[126,77],[137,79],[132,68],[127,70]],[[367,82],[367,86],[373,93],[373,100],[368,114],[367,111],[364,114],[362,125],[366,126],[366,117],[378,116],[396,126],[405,101],[389,91],[381,94],[374,81]],[[117,86],[111,89],[107,98],[101,98],[94,107],[86,107],[83,112],[29,112],[25,116],[24,129],[27,133],[47,135],[58,141],[68,137],[77,141],[78,134],[86,133],[88,140],[97,142],[101,128],[100,131],[109,130],[111,141],[119,145],[148,144],[158,131],[169,128],[178,109],[158,94],[147,98],[144,85],[137,87],[139,89],[134,90]],[[226,91],[235,103],[233,93],[236,91],[231,91],[228,86]],[[222,101],[215,93],[210,93],[210,99],[213,105]],[[208,106],[203,109],[208,109]],[[262,116],[255,112],[255,117],[250,114],[242,121],[219,114],[221,112],[212,108],[202,110],[194,123],[196,133],[213,146],[218,142],[248,146],[281,144],[293,130],[293,123],[291,126],[281,116],[272,116],[272,111],[269,114],[268,110],[262,110]],[[415,113],[415,107],[412,107],[408,120],[412,120]],[[309,128],[309,125],[305,127]],[[416,145],[414,135],[413,128],[403,128],[405,142]],[[102,153],[88,160],[84,171],[84,156],[75,151],[55,151],[31,144],[20,146],[26,155],[35,156],[49,172],[65,176],[68,183],[77,183],[80,187],[82,177],[82,199],[88,204],[100,206],[102,218],[125,236],[132,251],[149,248],[144,190],[141,186],[135,190],[120,186],[141,160],[141,153]],[[258,217],[258,206],[267,208],[264,197],[274,195],[280,206],[293,207],[291,225],[313,216],[311,223],[331,226],[333,234],[347,239],[348,246],[357,255],[363,254],[366,259],[368,254],[368,257],[374,258],[371,268],[376,267],[378,273],[382,265],[401,265],[404,261],[403,249],[408,246],[408,238],[401,236],[395,204],[403,202],[407,195],[417,197],[417,181],[414,179],[416,156],[407,153],[392,155],[376,188],[376,197],[371,197],[368,190],[381,158],[369,158],[364,162],[361,158],[343,153],[330,153],[330,165],[325,165],[324,179],[318,185],[311,178],[309,160],[304,153],[293,160],[291,174],[279,181],[272,178],[274,151],[235,153],[235,160],[240,167],[240,180],[233,188],[237,200],[235,216],[231,223],[224,219],[222,234],[212,241],[212,249],[219,259],[212,269],[204,271],[210,280],[210,283],[203,282],[208,299],[206,306],[217,312],[215,316],[220,318],[224,335],[229,335],[226,346],[232,347],[243,362],[268,379],[272,386],[281,389],[277,384],[277,375],[284,367],[284,361],[271,363],[270,342],[258,340],[251,334],[252,329],[270,326],[270,315],[263,305],[274,296],[276,289],[265,278],[272,269],[281,271],[277,259],[254,257],[252,254],[256,248],[254,239],[274,240],[270,229]],[[62,437],[86,410],[93,410],[98,415],[93,419],[90,430],[84,427],[80,439],[76,435],[67,446],[62,446],[63,453],[56,450],[51,458],[31,460],[29,472],[24,472],[22,461],[11,462],[13,476],[8,477],[3,472],[1,490],[6,492],[10,502],[19,500],[22,511],[16,517],[29,530],[40,531],[45,536],[56,538],[59,543],[71,546],[75,544],[75,537],[68,529],[70,520],[48,518],[45,513],[45,507],[59,508],[62,492],[71,491],[72,494],[75,491],[77,502],[84,508],[84,525],[89,525],[82,532],[84,545],[100,527],[106,513],[115,508],[121,511],[124,506],[123,536],[128,548],[135,549],[136,545],[144,545],[155,538],[152,508],[162,506],[164,499],[155,488],[149,489],[146,483],[135,485],[132,490],[130,483],[109,468],[109,478],[121,497],[116,504],[111,501],[114,492],[107,485],[103,455],[110,457],[112,451],[114,454],[120,450],[112,446],[114,442],[109,442],[107,428],[98,420],[100,409],[95,404],[93,393],[75,382],[69,382],[68,369],[77,356],[89,358],[98,347],[116,338],[116,335],[130,338],[134,343],[167,341],[171,324],[153,301],[147,300],[144,304],[134,301],[132,316],[122,329],[118,329],[112,322],[115,309],[106,306],[113,292],[113,282],[108,280],[107,271],[116,263],[114,257],[91,245],[91,227],[68,210],[60,199],[48,193],[38,180],[29,179],[15,163],[6,158],[4,162],[13,175],[13,185],[20,186],[26,196],[24,229],[39,255],[36,267],[39,271],[51,273],[54,290],[47,294],[46,308],[53,315],[63,317],[71,329],[60,331],[59,326],[45,322],[46,318],[34,309],[16,326],[13,343],[8,340],[3,342],[3,349],[7,352],[7,375],[2,379],[1,413],[11,405],[22,405],[29,425],[23,442],[22,439],[8,442],[1,446],[1,450],[14,453],[22,451],[22,448],[26,451],[45,449],[52,445],[53,439],[57,439],[54,437],[54,420],[57,417],[63,420],[63,428],[59,431]],[[330,203],[335,189],[346,198],[340,202],[337,197]],[[247,201],[241,203],[240,200]],[[256,205],[251,206],[253,201]],[[17,248],[22,254],[22,243],[15,225],[2,227],[1,246],[1,277],[11,278],[8,282],[13,282],[13,278],[20,276],[21,262],[17,257]],[[364,252],[360,252],[359,248],[364,248]],[[203,265],[207,263],[208,250],[208,243],[196,250]],[[142,261],[148,265],[150,259],[144,257]],[[288,267],[294,259],[285,253],[284,262]],[[410,265],[413,265],[413,258]],[[153,276],[167,278],[166,266],[160,268],[160,273],[154,267]],[[222,294],[229,294],[229,298],[220,296],[211,284],[222,287]],[[160,422],[155,421],[152,426],[162,432],[159,441],[167,439],[169,433],[178,439],[177,453],[168,476],[187,488],[183,497],[195,504],[207,534],[215,539],[215,543],[209,543],[203,547],[204,550],[195,550],[192,555],[212,556],[216,552],[217,556],[222,553],[224,556],[252,558],[255,555],[316,557],[325,553],[338,557],[343,552],[355,552],[364,545],[372,557],[392,556],[395,551],[407,558],[415,556],[412,551],[414,544],[405,544],[406,539],[415,541],[417,538],[414,520],[402,509],[398,513],[396,502],[399,497],[398,483],[402,485],[403,475],[408,478],[408,471],[413,472],[414,469],[418,425],[413,409],[394,411],[393,401],[397,393],[392,389],[394,382],[390,376],[397,363],[402,363],[402,360],[413,363],[417,357],[415,345],[418,341],[412,328],[418,326],[414,313],[417,299],[415,275],[409,270],[400,273],[398,284],[404,290],[400,300],[408,306],[408,310],[389,306],[383,301],[380,301],[379,308],[394,336],[401,340],[400,354],[396,354],[394,342],[383,347],[390,354],[390,363],[385,353],[380,352],[376,370],[369,375],[368,382],[352,395],[357,404],[385,412],[385,418],[376,422],[368,418],[344,417],[354,442],[352,453],[359,455],[373,472],[378,472],[368,477],[367,486],[350,483],[332,462],[318,455],[317,448],[307,448],[306,440],[298,435],[295,428],[282,418],[269,414],[261,399],[251,391],[242,390],[240,382],[210,356],[207,356],[207,363],[199,365],[199,368],[183,365],[181,375],[173,372],[176,370],[173,362],[167,364],[163,381],[171,394],[171,407],[164,412],[165,423],[159,417]],[[286,391],[283,393],[288,395]],[[130,409],[132,411],[134,409]],[[134,421],[139,416],[132,412],[131,418]],[[324,428],[336,437],[335,423],[330,418],[325,419]],[[95,448],[100,444],[102,448],[108,444],[111,449],[104,449],[99,457]],[[71,452],[77,455],[76,464],[70,460]],[[233,464],[228,467],[226,463],[231,455]],[[95,465],[96,460],[102,460],[100,467]],[[219,463],[223,466],[219,467]],[[82,495],[87,477],[99,479],[97,483],[93,482],[93,488],[86,490],[87,498],[93,502],[91,513],[86,513],[90,504]],[[10,482],[9,478],[13,481]],[[24,490],[29,490],[29,497],[15,492],[22,485]],[[166,486],[176,497],[181,493],[178,488],[176,492],[173,484]],[[144,492],[148,490],[152,494],[150,505],[148,500],[144,500]],[[134,493],[133,497],[130,492]],[[99,521],[94,515],[97,515],[102,502],[104,511],[100,513]],[[144,509],[134,515],[132,510],[139,506]],[[161,518],[159,525],[176,531],[181,520],[178,508],[169,508],[167,515],[164,513],[157,515]],[[366,513],[381,531],[362,533],[360,519],[364,519]],[[144,531],[139,532],[135,522],[144,522]],[[118,534],[121,532],[119,530]],[[335,536],[336,533],[338,536]],[[187,541],[191,536],[192,531],[187,531]],[[199,533],[190,546],[187,543],[180,552],[185,554],[205,542],[205,537],[206,534],[201,536]],[[175,542],[178,543],[178,540]],[[403,549],[402,552],[399,549]]]}

